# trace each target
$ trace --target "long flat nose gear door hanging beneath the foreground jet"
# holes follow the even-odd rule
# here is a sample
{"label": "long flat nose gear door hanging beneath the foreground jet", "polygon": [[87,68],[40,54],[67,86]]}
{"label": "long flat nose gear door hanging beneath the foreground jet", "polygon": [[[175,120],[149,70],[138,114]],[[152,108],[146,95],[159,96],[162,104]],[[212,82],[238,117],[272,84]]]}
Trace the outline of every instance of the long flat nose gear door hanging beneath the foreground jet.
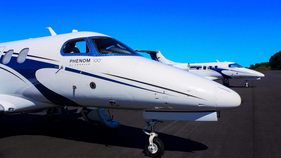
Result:
{"label": "long flat nose gear door hanging beneath the foreground jet", "polygon": [[181,121],[217,121],[217,112],[170,112],[144,111],[144,119],[181,120]]}

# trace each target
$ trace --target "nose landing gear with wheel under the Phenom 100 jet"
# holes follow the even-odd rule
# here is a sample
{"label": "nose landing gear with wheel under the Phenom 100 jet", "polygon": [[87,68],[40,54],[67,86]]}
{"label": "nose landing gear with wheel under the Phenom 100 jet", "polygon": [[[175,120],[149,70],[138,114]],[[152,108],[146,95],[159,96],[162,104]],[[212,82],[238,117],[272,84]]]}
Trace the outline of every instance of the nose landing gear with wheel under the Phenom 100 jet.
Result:
{"label": "nose landing gear with wheel under the Phenom 100 jet", "polygon": [[[164,144],[159,138],[157,138],[158,134],[154,132],[154,126],[157,122],[162,123],[162,121],[158,120],[148,120],[146,121],[146,127],[142,129],[144,133],[149,135],[149,139],[145,142],[144,148],[146,153],[152,157],[160,157],[164,154]],[[150,133],[145,130],[149,126],[151,127]]]}

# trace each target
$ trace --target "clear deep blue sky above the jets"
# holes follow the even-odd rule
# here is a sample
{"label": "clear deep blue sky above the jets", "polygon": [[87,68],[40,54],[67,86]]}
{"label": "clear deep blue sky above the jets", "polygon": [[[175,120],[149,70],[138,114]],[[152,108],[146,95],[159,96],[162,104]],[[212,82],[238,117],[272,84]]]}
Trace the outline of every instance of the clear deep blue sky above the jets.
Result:
{"label": "clear deep blue sky above the jets", "polygon": [[[281,51],[281,1],[4,1],[0,43],[93,31],[175,62],[244,67]],[[58,51],[59,52],[59,51]],[[149,56],[146,55],[149,58]]]}

